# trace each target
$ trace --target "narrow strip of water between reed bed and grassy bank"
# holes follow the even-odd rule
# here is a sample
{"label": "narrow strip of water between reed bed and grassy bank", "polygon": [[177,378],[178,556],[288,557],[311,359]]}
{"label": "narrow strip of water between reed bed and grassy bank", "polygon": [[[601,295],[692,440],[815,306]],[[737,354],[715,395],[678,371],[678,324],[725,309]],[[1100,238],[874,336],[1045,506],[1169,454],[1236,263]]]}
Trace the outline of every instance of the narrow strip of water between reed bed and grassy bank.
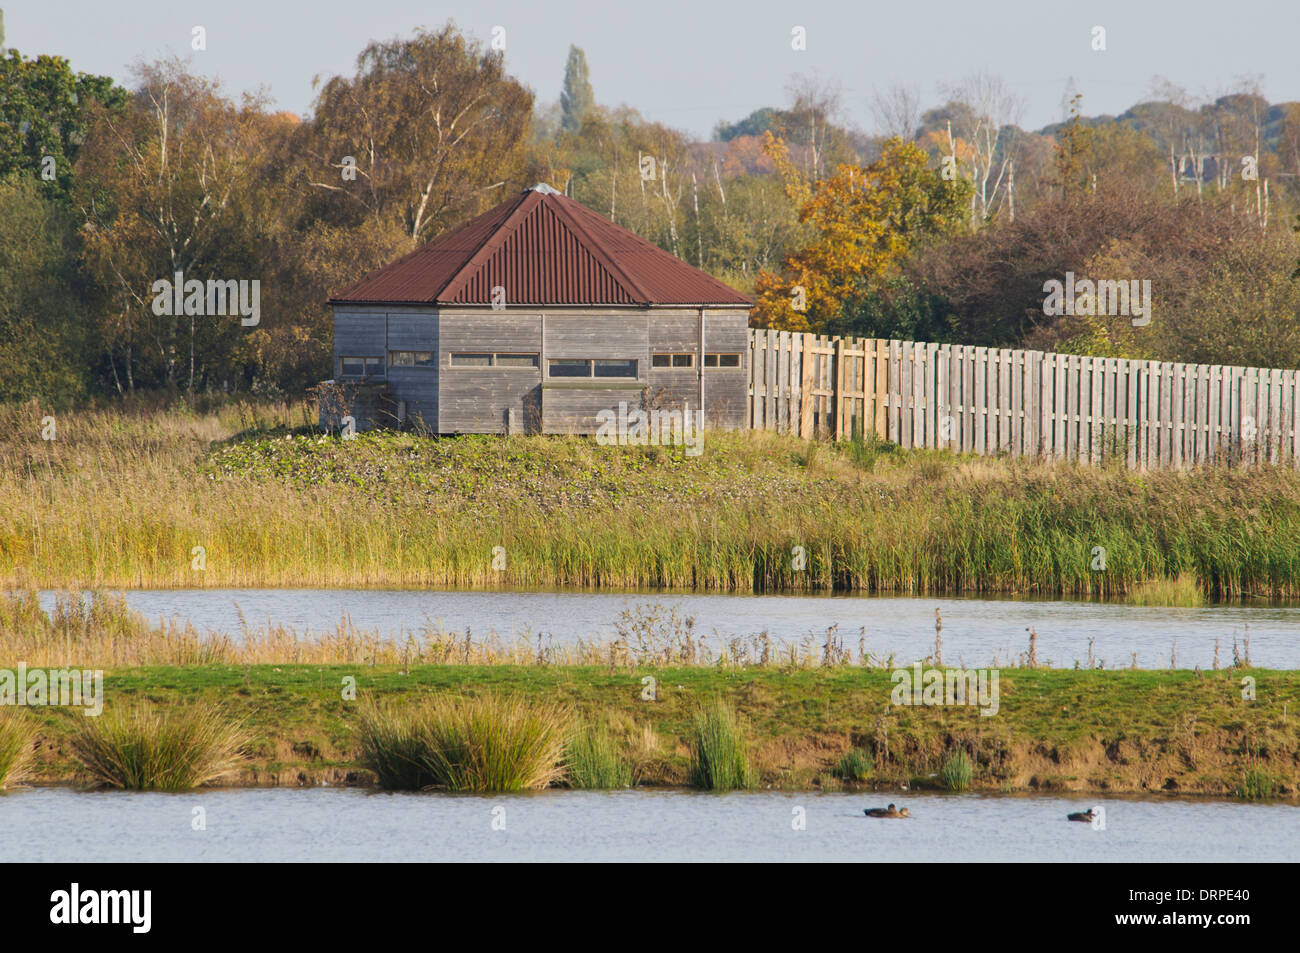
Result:
{"label": "narrow strip of water between reed bed and grassy bank", "polygon": [[[1020,601],[879,595],[698,595],[580,592],[430,592],[372,589],[179,589],[133,590],[126,601],[151,620],[188,619],[199,631],[239,632],[248,624],[283,624],[299,633],[333,629],[344,615],[363,629],[396,637],[424,625],[448,632],[495,633],[506,641],[528,634],[611,641],[620,615],[662,605],[690,616],[696,633],[716,646],[731,637],[764,629],[779,644],[811,636],[816,645],[838,625],[846,647],[858,650],[859,631],[876,658],[924,658],[935,647],[935,608],[944,616],[948,664],[1006,663],[1037,633],[1040,664],[1072,667],[1095,658],[1108,668],[1127,668],[1138,653],[1143,668],[1166,668],[1174,655],[1180,668],[1210,668],[1214,640],[1219,663],[1232,662],[1232,640],[1251,638],[1251,662],[1266,668],[1300,668],[1300,606],[1210,606],[1201,608],[1134,607],[1104,602]],[[53,594],[42,594],[52,607]]]}

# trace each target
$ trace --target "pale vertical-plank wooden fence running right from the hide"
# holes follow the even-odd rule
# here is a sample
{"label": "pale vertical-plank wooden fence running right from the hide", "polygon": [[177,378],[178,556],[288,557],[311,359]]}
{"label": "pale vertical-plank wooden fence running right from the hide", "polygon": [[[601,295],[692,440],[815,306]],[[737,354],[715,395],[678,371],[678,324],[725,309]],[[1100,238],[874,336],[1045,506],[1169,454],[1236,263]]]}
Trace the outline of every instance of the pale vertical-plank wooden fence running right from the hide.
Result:
{"label": "pale vertical-plank wooden fence running right from the hide", "polygon": [[755,429],[1134,468],[1300,464],[1300,372],[750,330]]}

